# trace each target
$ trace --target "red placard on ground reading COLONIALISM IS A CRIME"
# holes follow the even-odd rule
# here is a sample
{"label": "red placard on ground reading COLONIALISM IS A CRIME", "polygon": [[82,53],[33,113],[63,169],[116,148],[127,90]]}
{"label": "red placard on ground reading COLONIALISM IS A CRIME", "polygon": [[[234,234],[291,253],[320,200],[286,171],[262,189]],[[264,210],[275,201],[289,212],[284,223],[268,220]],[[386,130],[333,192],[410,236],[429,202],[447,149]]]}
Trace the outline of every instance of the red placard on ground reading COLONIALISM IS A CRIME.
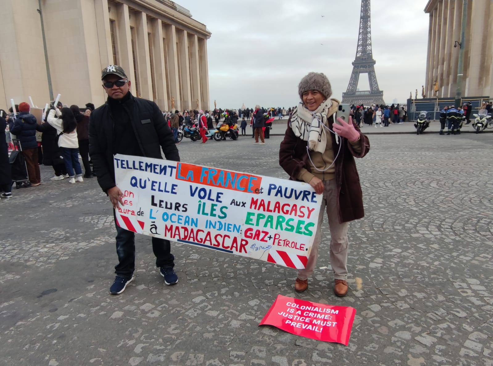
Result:
{"label": "red placard on ground reading COLONIALISM IS A CRIME", "polygon": [[278,295],[260,322],[302,337],[348,345],[356,309]]}

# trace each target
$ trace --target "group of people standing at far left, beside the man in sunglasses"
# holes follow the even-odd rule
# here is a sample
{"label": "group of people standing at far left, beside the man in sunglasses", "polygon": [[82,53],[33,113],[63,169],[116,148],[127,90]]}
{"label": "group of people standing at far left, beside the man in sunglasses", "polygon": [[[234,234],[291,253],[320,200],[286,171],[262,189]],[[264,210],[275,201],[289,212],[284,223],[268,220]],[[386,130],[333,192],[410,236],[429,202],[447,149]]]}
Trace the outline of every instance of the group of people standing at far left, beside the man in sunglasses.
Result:
{"label": "group of people standing at far left, beside the man in sunglasses", "polygon": [[[19,184],[35,187],[41,184],[39,164],[53,168],[52,181],[68,178],[69,183],[83,182],[94,173],[89,159],[89,116],[94,110],[87,103],[83,111],[76,105],[70,107],[61,102],[51,105],[42,120],[32,114],[31,106],[22,102],[11,107],[8,113],[0,110],[0,190],[2,198],[12,197],[12,175],[9,152],[22,150],[25,160],[27,180]],[[14,146],[14,141],[17,145]],[[79,163],[79,155],[84,166],[84,175]],[[14,179],[15,180],[15,179]]]}

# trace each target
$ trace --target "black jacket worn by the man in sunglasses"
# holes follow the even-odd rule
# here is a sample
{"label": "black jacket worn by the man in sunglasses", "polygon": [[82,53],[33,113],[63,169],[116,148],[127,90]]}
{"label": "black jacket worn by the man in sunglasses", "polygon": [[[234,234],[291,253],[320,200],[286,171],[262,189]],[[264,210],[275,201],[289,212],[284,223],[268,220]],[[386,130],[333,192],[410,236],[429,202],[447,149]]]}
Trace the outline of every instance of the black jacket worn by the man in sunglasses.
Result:
{"label": "black jacket worn by the man in sunglasses", "polygon": [[[151,101],[136,98],[131,118],[132,131],[135,134],[139,156],[162,159],[161,148],[166,159],[180,161],[173,132],[164,120],[159,107]],[[113,166],[114,132],[113,117],[108,102],[91,113],[89,122],[89,155],[93,163],[98,183],[107,191],[114,187],[115,171]]]}

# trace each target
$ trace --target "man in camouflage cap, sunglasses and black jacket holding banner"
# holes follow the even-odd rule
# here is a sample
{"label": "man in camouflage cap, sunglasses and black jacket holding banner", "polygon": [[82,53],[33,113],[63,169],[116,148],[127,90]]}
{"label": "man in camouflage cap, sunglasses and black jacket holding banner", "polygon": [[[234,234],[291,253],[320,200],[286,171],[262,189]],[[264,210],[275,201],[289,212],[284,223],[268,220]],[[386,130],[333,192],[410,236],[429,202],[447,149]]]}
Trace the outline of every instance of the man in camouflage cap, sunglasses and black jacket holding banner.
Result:
{"label": "man in camouflage cap, sunglasses and black jacket holding banner", "polygon": [[[130,93],[130,80],[120,66],[103,69],[101,79],[108,95],[104,105],[91,113],[89,122],[89,154],[98,183],[106,192],[114,210],[123,206],[123,193],[116,186],[113,155],[120,153],[179,161],[173,133],[158,106]],[[134,279],[135,234],[116,225],[116,278],[110,293],[122,293]],[[152,238],[156,266],[160,267],[166,285],[174,285],[178,277],[173,269],[175,257],[169,240]]]}

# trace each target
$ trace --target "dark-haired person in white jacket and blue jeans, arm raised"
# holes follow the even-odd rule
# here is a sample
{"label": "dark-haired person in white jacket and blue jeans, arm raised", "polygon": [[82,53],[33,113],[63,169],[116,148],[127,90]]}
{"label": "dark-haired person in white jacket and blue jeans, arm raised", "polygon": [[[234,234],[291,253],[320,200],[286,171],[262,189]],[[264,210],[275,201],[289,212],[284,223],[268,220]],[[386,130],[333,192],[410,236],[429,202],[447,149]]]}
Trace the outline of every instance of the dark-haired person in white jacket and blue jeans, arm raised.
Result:
{"label": "dark-haired person in white jacket and blue jeans, arm raised", "polygon": [[[52,109],[46,121],[56,128],[58,146],[65,162],[69,183],[83,182],[82,168],[79,163],[79,142],[77,140],[77,122],[70,108]],[[75,170],[75,174],[74,174]]]}

